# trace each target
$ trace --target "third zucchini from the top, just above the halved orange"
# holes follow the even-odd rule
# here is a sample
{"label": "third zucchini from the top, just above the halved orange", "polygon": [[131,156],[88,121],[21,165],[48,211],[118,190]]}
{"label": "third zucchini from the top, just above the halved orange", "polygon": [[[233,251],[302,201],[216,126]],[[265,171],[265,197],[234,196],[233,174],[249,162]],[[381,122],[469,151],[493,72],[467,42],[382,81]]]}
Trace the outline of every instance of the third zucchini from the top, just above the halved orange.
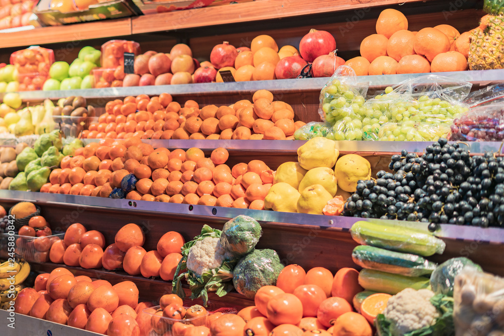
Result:
{"label": "third zucchini from the top, just above the halved orange", "polygon": [[405,288],[416,290],[427,288],[429,287],[429,279],[424,277],[405,277],[364,268],[359,272],[359,285],[366,291],[395,295]]}

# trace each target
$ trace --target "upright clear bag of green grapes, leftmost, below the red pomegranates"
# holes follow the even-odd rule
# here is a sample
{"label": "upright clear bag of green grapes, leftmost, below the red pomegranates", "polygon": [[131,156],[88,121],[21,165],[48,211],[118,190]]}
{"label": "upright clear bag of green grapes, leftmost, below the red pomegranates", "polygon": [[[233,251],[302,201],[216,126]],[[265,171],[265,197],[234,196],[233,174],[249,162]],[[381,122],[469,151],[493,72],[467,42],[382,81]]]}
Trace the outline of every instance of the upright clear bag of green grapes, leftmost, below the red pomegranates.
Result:
{"label": "upright clear bag of green grapes, leftmost, below the red pomegranates", "polygon": [[341,65],[320,93],[319,114],[334,125],[345,117],[362,120],[369,83],[359,83],[353,69]]}

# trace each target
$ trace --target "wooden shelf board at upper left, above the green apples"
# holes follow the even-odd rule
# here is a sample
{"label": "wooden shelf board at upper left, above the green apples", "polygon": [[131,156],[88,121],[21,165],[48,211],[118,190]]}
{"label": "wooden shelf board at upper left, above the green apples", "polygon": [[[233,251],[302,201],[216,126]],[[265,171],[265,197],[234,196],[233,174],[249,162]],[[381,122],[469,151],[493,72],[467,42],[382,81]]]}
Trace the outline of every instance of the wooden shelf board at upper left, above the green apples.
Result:
{"label": "wooden shelf board at upper left, above the green apples", "polygon": [[[37,28],[1,34],[2,48],[72,42],[72,49],[82,40],[131,35],[131,18]],[[82,46],[81,46],[82,47]],[[80,47],[79,47],[80,48]]]}

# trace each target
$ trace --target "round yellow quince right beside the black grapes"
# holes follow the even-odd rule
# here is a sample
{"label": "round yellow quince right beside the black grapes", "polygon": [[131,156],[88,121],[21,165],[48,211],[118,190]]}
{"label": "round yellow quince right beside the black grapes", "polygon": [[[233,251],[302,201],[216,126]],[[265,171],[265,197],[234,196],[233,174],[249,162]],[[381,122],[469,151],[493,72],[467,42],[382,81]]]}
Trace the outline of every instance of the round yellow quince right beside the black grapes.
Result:
{"label": "round yellow quince right beside the black grapes", "polygon": [[371,164],[357,154],[342,156],[334,167],[338,186],[348,192],[355,192],[358,180],[371,178]]}

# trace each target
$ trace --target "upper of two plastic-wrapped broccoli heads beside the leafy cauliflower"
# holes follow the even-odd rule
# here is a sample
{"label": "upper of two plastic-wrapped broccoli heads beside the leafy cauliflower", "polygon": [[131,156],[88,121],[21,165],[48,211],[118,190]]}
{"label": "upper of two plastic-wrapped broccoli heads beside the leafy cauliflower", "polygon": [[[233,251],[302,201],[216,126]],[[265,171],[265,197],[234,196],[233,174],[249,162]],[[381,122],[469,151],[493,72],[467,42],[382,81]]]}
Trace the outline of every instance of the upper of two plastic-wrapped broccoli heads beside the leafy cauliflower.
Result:
{"label": "upper of two plastic-wrapped broccoli heads beside the leafy cauliflower", "polygon": [[220,243],[233,257],[241,257],[254,250],[262,234],[254,218],[239,215],[224,224]]}

